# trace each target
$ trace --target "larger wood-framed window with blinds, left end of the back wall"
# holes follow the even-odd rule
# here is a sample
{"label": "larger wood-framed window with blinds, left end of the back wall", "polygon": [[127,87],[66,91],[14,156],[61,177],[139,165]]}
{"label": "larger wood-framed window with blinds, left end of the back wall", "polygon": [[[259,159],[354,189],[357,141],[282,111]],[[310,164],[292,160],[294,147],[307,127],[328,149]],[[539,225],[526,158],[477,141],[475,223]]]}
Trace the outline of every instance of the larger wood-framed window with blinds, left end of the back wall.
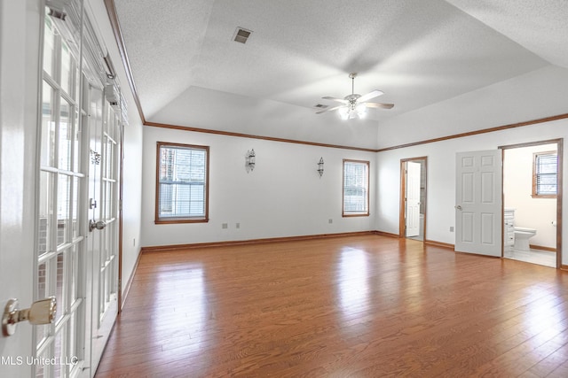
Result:
{"label": "larger wood-framed window with blinds, left end of the back wall", "polygon": [[155,223],[209,220],[209,147],[158,142]]}

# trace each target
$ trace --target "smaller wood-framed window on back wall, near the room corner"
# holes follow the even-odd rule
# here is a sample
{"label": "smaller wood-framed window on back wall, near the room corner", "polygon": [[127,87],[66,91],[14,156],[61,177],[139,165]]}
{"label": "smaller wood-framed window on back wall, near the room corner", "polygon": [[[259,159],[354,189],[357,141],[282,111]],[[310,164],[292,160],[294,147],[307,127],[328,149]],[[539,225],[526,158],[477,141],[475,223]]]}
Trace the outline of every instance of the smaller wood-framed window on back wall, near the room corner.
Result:
{"label": "smaller wood-framed window on back wall, near the room corner", "polygon": [[369,162],[343,159],[343,217],[369,215]]}

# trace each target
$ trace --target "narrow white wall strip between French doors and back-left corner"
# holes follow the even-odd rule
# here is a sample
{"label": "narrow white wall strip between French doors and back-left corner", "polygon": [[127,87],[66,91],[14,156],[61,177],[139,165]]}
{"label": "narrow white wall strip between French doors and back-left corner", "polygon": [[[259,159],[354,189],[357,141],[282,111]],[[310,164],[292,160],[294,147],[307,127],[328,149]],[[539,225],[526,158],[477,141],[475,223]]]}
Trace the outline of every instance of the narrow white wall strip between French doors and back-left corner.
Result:
{"label": "narrow white wall strip between French doors and back-left corner", "polygon": [[140,253],[140,227],[142,211],[142,120],[128,86],[126,72],[116,42],[113,29],[102,1],[88,0],[95,16],[100,34],[108,53],[113,60],[114,69],[122,85],[122,95],[128,103],[129,124],[124,128],[123,160],[123,201],[122,201],[122,290],[125,289]]}

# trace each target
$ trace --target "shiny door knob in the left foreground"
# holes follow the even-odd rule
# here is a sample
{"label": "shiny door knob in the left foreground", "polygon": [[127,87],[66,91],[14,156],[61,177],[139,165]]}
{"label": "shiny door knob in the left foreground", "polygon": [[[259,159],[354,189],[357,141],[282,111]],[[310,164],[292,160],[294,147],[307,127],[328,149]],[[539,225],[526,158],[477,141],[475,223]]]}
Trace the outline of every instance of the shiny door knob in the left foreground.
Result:
{"label": "shiny door knob in the left foreground", "polygon": [[55,297],[40,299],[24,310],[18,308],[18,299],[10,299],[4,307],[2,333],[4,336],[12,336],[16,332],[17,323],[23,320],[28,320],[34,325],[50,324],[55,319],[56,311]]}

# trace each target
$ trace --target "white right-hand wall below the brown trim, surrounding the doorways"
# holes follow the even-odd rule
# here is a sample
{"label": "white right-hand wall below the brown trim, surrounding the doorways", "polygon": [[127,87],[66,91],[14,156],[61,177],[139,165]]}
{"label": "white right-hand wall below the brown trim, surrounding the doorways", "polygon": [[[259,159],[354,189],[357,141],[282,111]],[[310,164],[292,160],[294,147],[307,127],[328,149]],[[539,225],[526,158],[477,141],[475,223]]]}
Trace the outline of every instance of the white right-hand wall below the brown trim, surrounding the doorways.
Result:
{"label": "white right-hand wall below the brown trim, surrounding the doorways", "polygon": [[[379,152],[379,191],[377,194],[376,229],[398,234],[400,159],[428,157],[427,230],[426,239],[455,243],[450,227],[455,224],[455,154],[468,150],[495,150],[501,145],[529,143],[548,139],[568,138],[568,120],[556,120],[527,127],[517,127],[489,134],[471,135],[437,143],[427,143],[398,150]],[[568,157],[564,153],[564,177],[568,177]],[[564,180],[565,181],[565,180]],[[568,183],[564,182],[564,198],[568,198]],[[563,208],[563,239],[568,240],[568,205]],[[564,250],[568,247],[564,246]],[[568,253],[563,253],[568,264]]]}

